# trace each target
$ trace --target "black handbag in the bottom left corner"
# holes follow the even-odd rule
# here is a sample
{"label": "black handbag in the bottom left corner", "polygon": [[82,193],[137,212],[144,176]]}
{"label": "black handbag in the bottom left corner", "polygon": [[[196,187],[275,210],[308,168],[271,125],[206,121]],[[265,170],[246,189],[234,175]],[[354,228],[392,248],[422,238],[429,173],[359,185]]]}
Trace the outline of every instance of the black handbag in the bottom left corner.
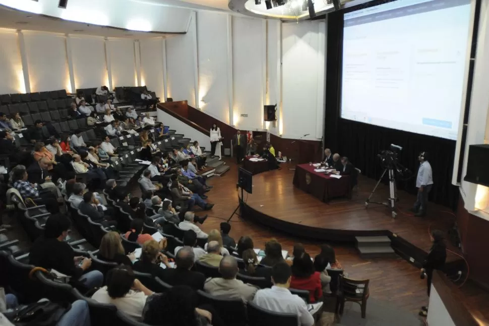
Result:
{"label": "black handbag in the bottom left corner", "polygon": [[51,301],[35,302],[19,310],[9,318],[16,326],[55,326],[71,308],[62,307]]}

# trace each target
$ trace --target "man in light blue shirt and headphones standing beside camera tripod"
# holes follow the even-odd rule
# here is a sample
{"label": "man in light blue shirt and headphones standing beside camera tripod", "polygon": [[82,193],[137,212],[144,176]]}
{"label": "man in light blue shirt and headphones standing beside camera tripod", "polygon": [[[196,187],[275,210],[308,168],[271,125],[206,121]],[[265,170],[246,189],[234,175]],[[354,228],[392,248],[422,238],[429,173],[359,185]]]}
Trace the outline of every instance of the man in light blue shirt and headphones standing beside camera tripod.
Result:
{"label": "man in light blue shirt and headphones standing beside camera tripod", "polygon": [[418,188],[418,194],[414,207],[411,209],[415,214],[414,216],[424,216],[426,214],[426,205],[428,203],[428,194],[433,187],[433,171],[431,169],[430,162],[427,158],[426,152],[420,152],[419,156],[419,169],[416,177],[416,188]]}

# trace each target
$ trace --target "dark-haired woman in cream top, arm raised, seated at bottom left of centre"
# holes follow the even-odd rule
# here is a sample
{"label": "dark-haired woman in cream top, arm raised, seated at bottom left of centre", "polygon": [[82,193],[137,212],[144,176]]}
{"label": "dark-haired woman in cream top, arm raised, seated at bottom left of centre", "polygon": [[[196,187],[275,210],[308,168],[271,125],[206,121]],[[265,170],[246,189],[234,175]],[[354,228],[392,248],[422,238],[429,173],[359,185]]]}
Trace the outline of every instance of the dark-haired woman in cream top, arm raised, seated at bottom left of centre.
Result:
{"label": "dark-haired woman in cream top, arm raised, seated at bottom left of centre", "polygon": [[113,304],[118,310],[141,321],[146,299],[152,294],[153,291],[136,279],[130,266],[120,265],[108,271],[106,286],[95,292],[92,299]]}

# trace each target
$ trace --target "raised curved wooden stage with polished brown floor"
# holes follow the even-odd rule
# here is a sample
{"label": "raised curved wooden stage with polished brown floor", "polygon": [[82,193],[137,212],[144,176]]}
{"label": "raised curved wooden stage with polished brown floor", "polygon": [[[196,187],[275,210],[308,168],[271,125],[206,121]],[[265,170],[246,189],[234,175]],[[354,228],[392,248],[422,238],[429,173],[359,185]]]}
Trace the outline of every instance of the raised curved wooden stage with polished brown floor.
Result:
{"label": "raised curved wooden stage with polished brown floor", "polygon": [[[431,204],[426,217],[413,216],[408,209],[415,196],[398,192],[398,214],[393,219],[388,207],[371,203],[365,208],[376,181],[358,176],[352,198],[335,198],[325,203],[292,184],[295,165],[253,176],[253,194],[244,193],[242,217],[296,237],[323,241],[354,242],[356,236],[389,236],[397,254],[419,265],[430,250],[430,229],[447,232],[454,215],[448,208]],[[387,201],[389,187],[381,184],[375,201]],[[450,246],[449,246],[450,248]],[[458,252],[458,249],[451,248]],[[449,254],[447,261],[459,257]],[[412,262],[412,261],[411,261]]]}

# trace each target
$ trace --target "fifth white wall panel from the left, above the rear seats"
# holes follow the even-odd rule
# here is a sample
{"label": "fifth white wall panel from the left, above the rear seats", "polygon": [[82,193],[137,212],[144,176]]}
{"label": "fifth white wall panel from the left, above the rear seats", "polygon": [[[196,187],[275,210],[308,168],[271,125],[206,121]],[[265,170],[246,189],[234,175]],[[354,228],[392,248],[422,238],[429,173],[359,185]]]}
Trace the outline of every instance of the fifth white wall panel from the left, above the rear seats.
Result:
{"label": "fifth white wall panel from the left, above the rear seats", "polygon": [[141,53],[141,86],[146,85],[163,100],[163,39],[147,38],[139,41]]}

